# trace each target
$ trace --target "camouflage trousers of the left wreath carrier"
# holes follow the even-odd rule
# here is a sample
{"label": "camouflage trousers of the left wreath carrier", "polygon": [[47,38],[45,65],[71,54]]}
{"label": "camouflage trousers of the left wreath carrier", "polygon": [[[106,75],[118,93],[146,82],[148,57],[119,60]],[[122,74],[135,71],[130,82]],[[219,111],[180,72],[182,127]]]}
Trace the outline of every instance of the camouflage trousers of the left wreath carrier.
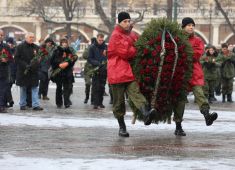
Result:
{"label": "camouflage trousers of the left wreath carrier", "polygon": [[137,109],[140,109],[147,103],[135,81],[112,84],[111,89],[113,93],[113,114],[116,118],[126,114],[125,92]]}

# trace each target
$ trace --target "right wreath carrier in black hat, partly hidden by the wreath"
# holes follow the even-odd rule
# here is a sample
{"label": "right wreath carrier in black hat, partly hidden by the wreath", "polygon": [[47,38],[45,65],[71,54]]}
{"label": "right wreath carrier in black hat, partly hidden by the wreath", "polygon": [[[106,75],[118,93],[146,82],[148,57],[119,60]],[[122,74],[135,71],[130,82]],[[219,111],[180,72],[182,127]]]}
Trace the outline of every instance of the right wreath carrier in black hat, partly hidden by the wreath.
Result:
{"label": "right wreath carrier in black hat, partly hidden by the wreath", "polygon": [[[188,35],[188,41],[193,48],[193,73],[189,82],[190,90],[193,91],[195,101],[199,106],[200,112],[204,115],[206,125],[213,124],[218,117],[217,113],[209,113],[210,106],[207,98],[205,97],[202,87],[204,86],[204,74],[200,58],[204,53],[203,41],[194,34],[195,22],[192,18],[186,17],[182,20],[182,29],[185,34]],[[185,132],[182,129],[181,122],[183,119],[183,113],[185,108],[185,101],[179,101],[178,105],[174,109],[174,121],[176,122],[175,135],[185,136]]]}

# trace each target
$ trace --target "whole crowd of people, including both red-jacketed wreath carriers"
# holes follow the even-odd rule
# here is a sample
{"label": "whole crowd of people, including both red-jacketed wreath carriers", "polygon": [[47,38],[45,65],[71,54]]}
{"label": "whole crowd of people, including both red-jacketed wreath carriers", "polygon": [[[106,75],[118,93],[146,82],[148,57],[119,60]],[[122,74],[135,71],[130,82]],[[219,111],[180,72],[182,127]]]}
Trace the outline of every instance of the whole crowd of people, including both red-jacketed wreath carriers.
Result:
{"label": "whole crowd of people, including both red-jacketed wreath carriers", "polygon": [[[119,124],[119,135],[123,137],[129,136],[124,121],[126,95],[143,114],[145,125],[150,125],[158,114],[154,108],[149,109],[132,72],[130,61],[136,56],[135,42],[138,40],[132,27],[129,13],[120,12],[109,45],[106,45],[104,35],[98,34],[83,53],[83,58],[87,60],[84,103],[91,99],[93,109],[105,108],[103,96],[108,80],[110,104],[113,104],[113,113]],[[222,102],[233,102],[235,51],[229,50],[225,43],[219,50],[213,45],[204,48],[202,40],[194,34],[194,27],[192,18],[182,20],[182,29],[188,35],[194,52],[190,88],[206,125],[210,126],[218,117],[217,113],[210,113],[209,104],[217,100],[215,94],[222,94]],[[4,32],[0,30],[0,113],[7,112],[7,108],[14,105],[11,94],[14,83],[20,87],[20,110],[29,107],[34,111],[43,110],[39,99],[49,100],[50,80],[56,84],[56,106],[68,108],[72,105],[73,67],[78,56],[67,38],[62,38],[58,45],[47,38],[38,46],[34,43],[34,34],[28,32],[25,40],[17,46],[11,37],[5,41]],[[178,101],[173,109],[177,136],[186,135],[181,125],[186,102]]]}

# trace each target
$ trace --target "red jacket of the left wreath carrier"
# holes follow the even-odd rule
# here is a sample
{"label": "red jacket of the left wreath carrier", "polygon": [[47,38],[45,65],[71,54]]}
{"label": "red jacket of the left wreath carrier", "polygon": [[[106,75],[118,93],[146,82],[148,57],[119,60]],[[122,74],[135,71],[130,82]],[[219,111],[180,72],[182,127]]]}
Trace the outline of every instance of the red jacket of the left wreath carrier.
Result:
{"label": "red jacket of the left wreath carrier", "polygon": [[108,45],[108,82],[118,84],[135,80],[130,61],[136,55],[134,43],[138,37],[117,25],[110,37]]}

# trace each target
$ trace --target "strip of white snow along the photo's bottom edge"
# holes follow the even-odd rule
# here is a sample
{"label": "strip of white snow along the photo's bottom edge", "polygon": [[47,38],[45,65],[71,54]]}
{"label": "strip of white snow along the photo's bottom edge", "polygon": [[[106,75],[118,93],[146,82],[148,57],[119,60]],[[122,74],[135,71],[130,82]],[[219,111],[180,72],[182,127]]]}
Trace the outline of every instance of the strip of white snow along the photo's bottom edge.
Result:
{"label": "strip of white snow along the photo's bottom edge", "polygon": [[166,160],[161,157],[144,159],[45,159],[17,158],[4,155],[0,159],[1,170],[183,170],[213,169],[232,170],[235,163],[231,160]]}

